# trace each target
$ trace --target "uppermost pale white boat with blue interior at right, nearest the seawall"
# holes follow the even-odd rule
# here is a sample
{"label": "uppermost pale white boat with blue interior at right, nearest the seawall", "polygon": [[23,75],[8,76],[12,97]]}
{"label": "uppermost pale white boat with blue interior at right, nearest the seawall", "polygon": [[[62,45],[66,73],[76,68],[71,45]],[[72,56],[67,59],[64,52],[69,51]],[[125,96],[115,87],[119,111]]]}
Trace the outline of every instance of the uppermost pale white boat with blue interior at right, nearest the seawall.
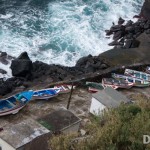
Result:
{"label": "uppermost pale white boat with blue interior at right, nearest the seawall", "polygon": [[145,72],[126,69],[124,74],[131,76],[131,77],[134,77],[134,78],[143,79],[143,80],[150,82],[150,74],[145,73]]}

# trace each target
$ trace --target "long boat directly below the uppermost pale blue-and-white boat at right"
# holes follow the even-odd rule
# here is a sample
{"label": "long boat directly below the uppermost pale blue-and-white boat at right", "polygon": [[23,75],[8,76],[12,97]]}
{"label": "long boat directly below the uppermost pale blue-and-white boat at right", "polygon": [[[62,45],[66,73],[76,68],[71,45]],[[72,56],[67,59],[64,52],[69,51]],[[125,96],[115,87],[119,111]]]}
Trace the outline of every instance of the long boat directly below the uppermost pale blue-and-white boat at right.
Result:
{"label": "long boat directly below the uppermost pale blue-and-white boat at right", "polygon": [[150,86],[150,82],[143,80],[143,79],[138,79],[126,75],[120,75],[120,74],[115,74],[112,73],[112,77],[115,79],[124,79],[128,83],[133,83],[133,86],[136,87],[148,87]]}

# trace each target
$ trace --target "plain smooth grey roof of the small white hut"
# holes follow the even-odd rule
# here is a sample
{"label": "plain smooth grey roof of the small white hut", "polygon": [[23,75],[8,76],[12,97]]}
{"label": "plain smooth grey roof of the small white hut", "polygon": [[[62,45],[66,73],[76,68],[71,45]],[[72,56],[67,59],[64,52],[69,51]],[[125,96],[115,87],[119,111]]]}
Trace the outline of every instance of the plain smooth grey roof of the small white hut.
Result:
{"label": "plain smooth grey roof of the small white hut", "polygon": [[93,97],[108,108],[117,107],[121,102],[130,102],[125,95],[119,93],[111,87],[107,87],[106,89],[93,94]]}

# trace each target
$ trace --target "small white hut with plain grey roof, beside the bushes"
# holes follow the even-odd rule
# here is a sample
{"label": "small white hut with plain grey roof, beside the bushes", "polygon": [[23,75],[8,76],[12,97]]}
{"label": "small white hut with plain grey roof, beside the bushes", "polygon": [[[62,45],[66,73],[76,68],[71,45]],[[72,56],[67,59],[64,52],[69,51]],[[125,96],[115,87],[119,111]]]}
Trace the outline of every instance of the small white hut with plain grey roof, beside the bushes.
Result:
{"label": "small white hut with plain grey roof, beside the bushes", "polygon": [[107,87],[92,95],[90,113],[99,115],[107,108],[118,107],[122,102],[129,103],[130,100],[113,88]]}

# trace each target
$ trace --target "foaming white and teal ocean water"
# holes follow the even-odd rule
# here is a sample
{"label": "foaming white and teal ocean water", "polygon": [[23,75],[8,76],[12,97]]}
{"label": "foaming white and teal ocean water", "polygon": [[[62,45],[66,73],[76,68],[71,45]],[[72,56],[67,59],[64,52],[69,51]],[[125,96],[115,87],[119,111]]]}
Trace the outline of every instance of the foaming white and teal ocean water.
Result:
{"label": "foaming white and teal ocean water", "polygon": [[0,0],[0,50],[73,66],[111,47],[105,30],[132,19],[144,0]]}

